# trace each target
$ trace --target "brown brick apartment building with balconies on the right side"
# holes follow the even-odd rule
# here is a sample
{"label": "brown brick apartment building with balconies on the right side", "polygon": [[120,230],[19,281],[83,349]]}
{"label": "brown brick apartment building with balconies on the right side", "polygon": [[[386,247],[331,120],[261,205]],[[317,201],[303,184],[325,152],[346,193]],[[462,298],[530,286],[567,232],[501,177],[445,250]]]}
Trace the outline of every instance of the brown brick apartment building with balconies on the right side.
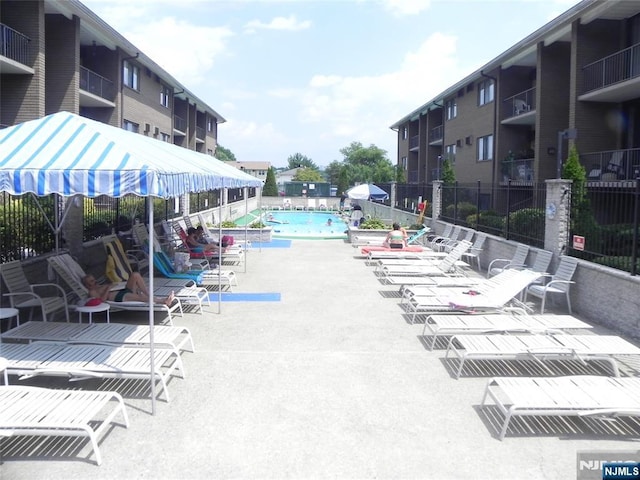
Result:
{"label": "brown brick apartment building with balconies on the right side", "polygon": [[592,186],[640,174],[640,2],[584,0],[391,126],[409,183],[522,186],[575,144]]}

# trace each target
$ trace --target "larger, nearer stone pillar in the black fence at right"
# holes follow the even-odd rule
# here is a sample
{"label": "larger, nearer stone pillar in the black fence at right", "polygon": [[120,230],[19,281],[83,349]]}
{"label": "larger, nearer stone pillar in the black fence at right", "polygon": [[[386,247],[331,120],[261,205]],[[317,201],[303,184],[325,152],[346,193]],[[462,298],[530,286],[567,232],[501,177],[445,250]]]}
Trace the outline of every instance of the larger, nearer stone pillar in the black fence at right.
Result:
{"label": "larger, nearer stone pillar in the black fence at right", "polygon": [[545,206],[544,248],[555,256],[568,253],[571,220],[571,180],[562,178],[545,180],[547,203]]}

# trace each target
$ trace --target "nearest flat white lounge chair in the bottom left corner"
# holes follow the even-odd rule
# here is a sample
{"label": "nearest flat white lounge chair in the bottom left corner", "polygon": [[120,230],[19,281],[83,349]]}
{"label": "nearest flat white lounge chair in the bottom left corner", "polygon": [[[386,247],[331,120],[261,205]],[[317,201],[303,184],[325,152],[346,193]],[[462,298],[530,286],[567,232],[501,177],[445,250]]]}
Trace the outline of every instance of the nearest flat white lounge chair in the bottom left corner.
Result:
{"label": "nearest flat white lounge chair in the bottom left corner", "polygon": [[87,437],[98,465],[98,442],[118,415],[129,426],[124,401],[115,392],[7,385],[0,387],[0,412],[0,436]]}

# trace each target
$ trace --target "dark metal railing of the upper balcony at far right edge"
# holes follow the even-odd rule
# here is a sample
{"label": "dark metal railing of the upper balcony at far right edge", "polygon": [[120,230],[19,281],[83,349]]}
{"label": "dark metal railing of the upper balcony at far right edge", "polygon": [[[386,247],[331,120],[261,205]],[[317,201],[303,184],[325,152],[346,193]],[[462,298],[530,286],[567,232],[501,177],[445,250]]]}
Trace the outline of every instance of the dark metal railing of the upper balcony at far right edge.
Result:
{"label": "dark metal railing of the upper balcony at far right edge", "polygon": [[640,43],[585,65],[583,92],[588,93],[640,75]]}

